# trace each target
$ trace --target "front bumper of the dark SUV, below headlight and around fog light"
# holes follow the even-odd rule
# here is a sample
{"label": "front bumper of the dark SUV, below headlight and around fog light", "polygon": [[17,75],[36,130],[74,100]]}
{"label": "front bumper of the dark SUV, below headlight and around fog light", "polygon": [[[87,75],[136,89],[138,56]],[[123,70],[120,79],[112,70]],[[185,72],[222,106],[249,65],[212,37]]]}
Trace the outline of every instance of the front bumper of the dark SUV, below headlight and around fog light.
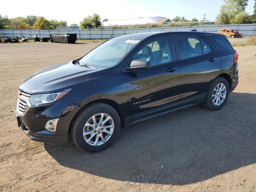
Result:
{"label": "front bumper of the dark SUV, below headlight and around fog light", "polygon": [[[60,99],[40,106],[30,106],[23,116],[17,112],[16,116],[18,126],[32,140],[66,146],[69,126],[77,111],[74,104]],[[45,125],[48,120],[53,119],[59,120],[56,131],[50,132],[45,129]]]}

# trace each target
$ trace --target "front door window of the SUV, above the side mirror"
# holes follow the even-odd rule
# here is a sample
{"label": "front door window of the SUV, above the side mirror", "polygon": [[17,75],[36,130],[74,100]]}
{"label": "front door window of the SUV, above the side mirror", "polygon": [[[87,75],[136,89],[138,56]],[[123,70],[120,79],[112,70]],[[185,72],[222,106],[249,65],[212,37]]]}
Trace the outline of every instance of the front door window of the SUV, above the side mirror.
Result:
{"label": "front door window of the SUV, above the side mirror", "polygon": [[168,37],[151,40],[133,56],[132,60],[141,59],[151,62],[151,66],[172,61],[172,51]]}

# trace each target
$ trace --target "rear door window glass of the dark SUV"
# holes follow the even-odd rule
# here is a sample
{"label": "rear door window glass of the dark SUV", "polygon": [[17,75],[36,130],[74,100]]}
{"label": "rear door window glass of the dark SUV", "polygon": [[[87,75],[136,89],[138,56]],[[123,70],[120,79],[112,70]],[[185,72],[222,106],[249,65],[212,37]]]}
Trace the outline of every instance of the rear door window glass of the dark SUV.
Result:
{"label": "rear door window glass of the dark SUV", "polygon": [[197,36],[178,35],[176,43],[180,59],[191,58],[202,55],[202,48]]}

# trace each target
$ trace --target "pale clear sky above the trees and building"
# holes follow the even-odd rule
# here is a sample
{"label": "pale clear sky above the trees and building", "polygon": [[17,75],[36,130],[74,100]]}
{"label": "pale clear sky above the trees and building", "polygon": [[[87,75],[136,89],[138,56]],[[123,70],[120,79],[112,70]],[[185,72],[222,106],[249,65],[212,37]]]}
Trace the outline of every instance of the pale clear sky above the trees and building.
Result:
{"label": "pale clear sky above the trees and building", "polygon": [[[35,6],[36,2],[36,6]],[[223,0],[76,0],[76,1],[32,1],[26,0],[20,5],[20,0],[12,0],[10,9],[2,8],[0,14],[15,18],[18,16],[36,15],[46,19],[65,20],[68,25],[79,22],[86,16],[97,13],[101,19],[120,20],[139,17],[162,16],[174,18],[184,16],[198,20],[206,14],[206,19],[215,20]],[[46,7],[45,5],[48,5]],[[25,8],[22,8],[25,6]],[[254,0],[248,1],[246,12],[253,13]]]}

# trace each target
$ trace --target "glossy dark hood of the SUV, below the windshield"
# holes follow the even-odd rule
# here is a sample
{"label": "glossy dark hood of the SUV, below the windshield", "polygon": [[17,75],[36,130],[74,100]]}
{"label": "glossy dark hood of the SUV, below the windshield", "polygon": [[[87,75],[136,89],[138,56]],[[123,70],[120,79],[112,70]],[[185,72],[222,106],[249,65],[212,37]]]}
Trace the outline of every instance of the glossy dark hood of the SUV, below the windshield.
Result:
{"label": "glossy dark hood of the SUV, below the windshield", "polygon": [[54,93],[71,88],[76,82],[103,74],[107,69],[92,69],[70,62],[44,68],[22,82],[20,90],[29,94]]}

